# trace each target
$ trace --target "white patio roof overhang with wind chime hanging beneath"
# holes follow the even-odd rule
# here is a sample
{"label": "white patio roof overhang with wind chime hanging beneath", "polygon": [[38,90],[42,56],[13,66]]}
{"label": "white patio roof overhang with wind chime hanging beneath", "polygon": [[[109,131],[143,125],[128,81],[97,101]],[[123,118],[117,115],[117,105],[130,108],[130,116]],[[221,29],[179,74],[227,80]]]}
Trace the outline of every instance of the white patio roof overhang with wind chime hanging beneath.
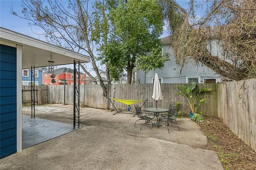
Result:
{"label": "white patio roof overhang with wind chime hanging beneath", "polygon": [[52,45],[23,34],[0,27],[0,42],[22,46],[22,69],[48,67],[52,55],[54,65],[72,64],[74,60],[80,63],[90,62],[90,57],[56,45]]}

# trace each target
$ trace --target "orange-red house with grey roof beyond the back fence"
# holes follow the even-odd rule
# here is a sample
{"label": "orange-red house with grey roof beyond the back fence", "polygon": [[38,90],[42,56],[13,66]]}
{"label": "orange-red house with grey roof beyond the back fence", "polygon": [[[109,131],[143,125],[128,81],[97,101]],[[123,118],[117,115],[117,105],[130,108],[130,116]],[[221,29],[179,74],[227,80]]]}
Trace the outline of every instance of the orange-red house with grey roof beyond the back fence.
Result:
{"label": "orange-red house with grey roof beyond the back fence", "polygon": [[[66,67],[62,67],[54,70],[55,73],[55,82],[52,83],[52,78],[50,73],[43,73],[43,83],[44,85],[73,85],[74,84],[74,70]],[[80,72],[80,85],[86,84],[86,75]]]}

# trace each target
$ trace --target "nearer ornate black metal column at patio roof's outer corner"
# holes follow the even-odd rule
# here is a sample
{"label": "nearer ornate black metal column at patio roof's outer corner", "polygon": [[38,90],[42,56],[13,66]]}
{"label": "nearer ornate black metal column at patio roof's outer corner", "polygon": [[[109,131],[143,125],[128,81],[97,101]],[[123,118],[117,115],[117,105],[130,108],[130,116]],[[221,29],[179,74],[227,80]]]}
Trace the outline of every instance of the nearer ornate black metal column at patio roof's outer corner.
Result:
{"label": "nearer ornate black metal column at patio roof's outer corner", "polygon": [[80,99],[79,99],[79,84],[80,84],[80,62],[74,60],[74,129],[76,127],[76,119],[78,119],[78,128],[79,128],[79,119],[80,119]]}

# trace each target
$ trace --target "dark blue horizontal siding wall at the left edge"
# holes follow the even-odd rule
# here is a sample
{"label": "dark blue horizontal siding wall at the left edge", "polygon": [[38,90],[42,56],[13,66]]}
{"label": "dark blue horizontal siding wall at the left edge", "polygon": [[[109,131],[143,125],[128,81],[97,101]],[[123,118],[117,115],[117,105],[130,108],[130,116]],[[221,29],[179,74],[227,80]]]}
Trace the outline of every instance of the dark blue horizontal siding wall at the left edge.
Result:
{"label": "dark blue horizontal siding wall at the left edge", "polygon": [[0,44],[0,158],[17,151],[16,48]]}

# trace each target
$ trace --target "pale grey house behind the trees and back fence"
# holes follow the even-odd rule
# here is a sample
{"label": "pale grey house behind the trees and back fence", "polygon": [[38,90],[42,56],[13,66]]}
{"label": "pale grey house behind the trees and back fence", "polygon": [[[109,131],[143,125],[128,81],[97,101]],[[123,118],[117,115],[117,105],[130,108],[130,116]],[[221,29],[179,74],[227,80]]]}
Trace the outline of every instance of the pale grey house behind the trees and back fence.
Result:
{"label": "pale grey house behind the trees and back fence", "polygon": [[[170,40],[170,36],[161,39],[164,44],[163,53],[170,53],[170,61],[166,61],[163,69],[156,69],[148,73],[137,71],[137,83],[153,83],[155,73],[158,73],[160,83],[190,83],[191,81],[196,83],[221,83],[230,81],[230,79],[220,77],[212,69],[201,64],[194,66],[188,62],[180,72],[181,66],[176,63]],[[220,48],[214,39],[212,40],[212,55],[220,56]]]}

